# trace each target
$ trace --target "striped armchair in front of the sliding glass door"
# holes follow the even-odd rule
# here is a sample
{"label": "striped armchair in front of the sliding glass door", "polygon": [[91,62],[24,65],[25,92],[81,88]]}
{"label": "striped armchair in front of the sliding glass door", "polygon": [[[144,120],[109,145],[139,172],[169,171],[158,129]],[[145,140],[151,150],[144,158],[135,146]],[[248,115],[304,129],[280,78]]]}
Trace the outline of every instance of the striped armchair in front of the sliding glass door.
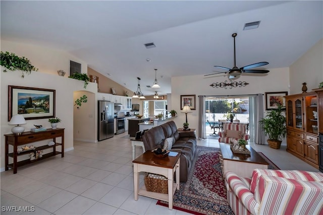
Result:
{"label": "striped armchair in front of the sliding glass door", "polygon": [[226,144],[231,144],[234,140],[248,140],[250,138],[250,135],[246,133],[246,125],[234,122],[224,123],[223,131],[219,132],[219,136],[219,142],[225,142]]}

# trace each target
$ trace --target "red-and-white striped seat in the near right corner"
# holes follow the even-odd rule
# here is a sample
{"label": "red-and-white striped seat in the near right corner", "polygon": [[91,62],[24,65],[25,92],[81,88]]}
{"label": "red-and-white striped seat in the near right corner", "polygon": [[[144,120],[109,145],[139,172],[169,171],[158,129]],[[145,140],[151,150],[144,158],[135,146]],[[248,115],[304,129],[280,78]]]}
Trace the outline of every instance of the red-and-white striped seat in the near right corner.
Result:
{"label": "red-and-white striped seat in the near right corner", "polygon": [[323,173],[255,169],[240,178],[227,171],[225,183],[236,215],[323,214]]}

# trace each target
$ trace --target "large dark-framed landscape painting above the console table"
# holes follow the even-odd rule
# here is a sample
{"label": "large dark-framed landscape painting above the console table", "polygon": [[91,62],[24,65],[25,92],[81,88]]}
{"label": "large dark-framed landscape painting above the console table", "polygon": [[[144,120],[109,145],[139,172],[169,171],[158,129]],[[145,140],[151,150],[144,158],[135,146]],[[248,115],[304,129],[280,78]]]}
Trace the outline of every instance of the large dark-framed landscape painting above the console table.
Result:
{"label": "large dark-framed landscape painting above the console table", "polygon": [[8,86],[8,121],[13,115],[26,120],[55,117],[55,90]]}

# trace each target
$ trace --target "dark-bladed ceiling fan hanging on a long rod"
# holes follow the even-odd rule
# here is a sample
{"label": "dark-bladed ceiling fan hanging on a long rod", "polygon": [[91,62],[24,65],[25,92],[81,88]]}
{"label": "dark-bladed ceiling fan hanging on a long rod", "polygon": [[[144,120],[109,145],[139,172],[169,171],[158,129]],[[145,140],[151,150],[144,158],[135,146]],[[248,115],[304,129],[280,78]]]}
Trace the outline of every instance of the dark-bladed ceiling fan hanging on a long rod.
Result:
{"label": "dark-bladed ceiling fan hanging on a long rod", "polygon": [[241,73],[260,73],[260,74],[264,74],[264,73],[268,73],[269,70],[264,70],[264,69],[250,69],[250,68],[255,68],[255,67],[259,67],[259,66],[263,66],[263,65],[267,65],[268,62],[257,62],[257,63],[253,63],[250,65],[246,65],[243,66],[241,68],[238,68],[236,66],[236,36],[237,33],[233,33],[232,37],[233,37],[233,42],[234,42],[234,66],[233,68],[227,68],[224,66],[218,66],[218,65],[214,65],[215,67],[218,68],[222,68],[228,71],[224,71],[224,72],[220,72],[220,73],[213,73],[213,74],[208,74],[208,75],[204,75],[204,76],[212,76],[212,75],[216,75],[216,74],[229,74],[229,79],[233,79],[236,78],[238,76],[241,75]]}

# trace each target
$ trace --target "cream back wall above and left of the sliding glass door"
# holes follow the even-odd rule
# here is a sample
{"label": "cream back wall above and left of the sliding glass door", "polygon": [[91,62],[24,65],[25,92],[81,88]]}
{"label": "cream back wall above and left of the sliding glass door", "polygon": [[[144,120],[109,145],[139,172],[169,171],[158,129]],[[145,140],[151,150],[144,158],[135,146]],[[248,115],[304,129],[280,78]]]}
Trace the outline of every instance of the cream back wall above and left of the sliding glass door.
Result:
{"label": "cream back wall above and left of the sliding glass door", "polygon": [[[251,95],[265,92],[281,92],[289,91],[289,68],[271,68],[270,72],[263,77],[249,76],[249,74],[241,75],[237,82],[249,83],[246,87],[236,87],[230,89],[212,88],[210,85],[216,82],[228,81],[227,76],[205,78],[199,76],[184,76],[172,78],[172,109],[177,111],[178,117],[174,119],[177,127],[182,127],[185,122],[185,113],[181,113],[180,98],[181,95],[196,95],[196,110],[187,114],[189,126],[197,128],[198,126],[198,95],[219,96],[219,95]],[[248,75],[248,76],[247,76]],[[196,131],[198,132],[198,131]]]}

